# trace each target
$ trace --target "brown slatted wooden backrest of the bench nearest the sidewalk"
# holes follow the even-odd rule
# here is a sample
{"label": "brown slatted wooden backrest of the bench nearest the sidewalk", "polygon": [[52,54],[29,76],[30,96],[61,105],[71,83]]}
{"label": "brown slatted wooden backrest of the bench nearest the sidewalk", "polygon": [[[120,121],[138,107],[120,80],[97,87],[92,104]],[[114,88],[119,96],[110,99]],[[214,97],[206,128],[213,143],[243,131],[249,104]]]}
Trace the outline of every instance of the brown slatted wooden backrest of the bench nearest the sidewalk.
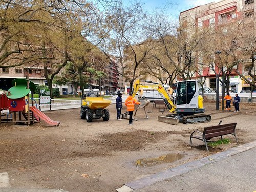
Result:
{"label": "brown slatted wooden backrest of the bench nearest the sidewalk", "polygon": [[236,126],[237,126],[237,123],[229,123],[229,124],[205,127],[203,132],[203,137],[207,139],[207,138],[218,137],[218,136],[234,133],[234,129],[236,129]]}

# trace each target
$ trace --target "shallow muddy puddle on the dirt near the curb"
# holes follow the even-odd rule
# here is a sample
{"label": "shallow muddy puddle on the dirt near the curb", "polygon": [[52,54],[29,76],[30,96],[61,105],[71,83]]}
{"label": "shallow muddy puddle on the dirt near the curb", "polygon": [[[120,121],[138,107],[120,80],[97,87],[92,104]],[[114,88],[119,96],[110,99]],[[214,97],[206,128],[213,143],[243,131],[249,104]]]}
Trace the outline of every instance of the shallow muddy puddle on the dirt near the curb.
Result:
{"label": "shallow muddy puddle on the dirt near the curb", "polygon": [[145,158],[145,159],[138,159],[136,161],[136,167],[150,167],[161,163],[172,163],[183,158],[184,155],[179,153],[170,153],[167,155],[161,155],[156,158]]}

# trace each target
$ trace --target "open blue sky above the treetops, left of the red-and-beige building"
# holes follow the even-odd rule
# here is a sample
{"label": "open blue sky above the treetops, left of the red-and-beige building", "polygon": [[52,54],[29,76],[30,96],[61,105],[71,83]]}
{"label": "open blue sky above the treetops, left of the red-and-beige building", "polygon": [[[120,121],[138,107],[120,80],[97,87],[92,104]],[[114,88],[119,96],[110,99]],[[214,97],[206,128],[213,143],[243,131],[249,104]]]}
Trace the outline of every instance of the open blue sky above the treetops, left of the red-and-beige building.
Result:
{"label": "open blue sky above the treetops, left of the red-and-beige building", "polygon": [[[126,2],[127,0],[124,0]],[[179,13],[190,8],[196,7],[198,5],[204,5],[210,2],[214,2],[214,0],[140,0],[144,2],[144,8],[148,11],[152,11],[155,8],[164,8],[167,4],[169,4],[167,13],[173,15],[174,18],[179,18]],[[215,2],[219,2],[220,0],[215,0]]]}

